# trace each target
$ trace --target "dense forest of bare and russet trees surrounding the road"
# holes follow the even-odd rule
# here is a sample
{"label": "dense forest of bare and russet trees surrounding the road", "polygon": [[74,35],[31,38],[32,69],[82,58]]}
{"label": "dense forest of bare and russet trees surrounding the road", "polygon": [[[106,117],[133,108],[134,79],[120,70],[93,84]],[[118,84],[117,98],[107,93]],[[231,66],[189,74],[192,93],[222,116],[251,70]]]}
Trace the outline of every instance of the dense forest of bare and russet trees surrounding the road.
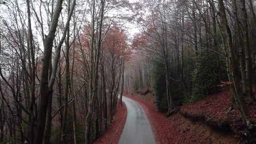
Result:
{"label": "dense forest of bare and russet trees surrounding the road", "polygon": [[229,87],[253,133],[255,5],[0,0],[0,144],[90,144],[144,88],[167,112]]}

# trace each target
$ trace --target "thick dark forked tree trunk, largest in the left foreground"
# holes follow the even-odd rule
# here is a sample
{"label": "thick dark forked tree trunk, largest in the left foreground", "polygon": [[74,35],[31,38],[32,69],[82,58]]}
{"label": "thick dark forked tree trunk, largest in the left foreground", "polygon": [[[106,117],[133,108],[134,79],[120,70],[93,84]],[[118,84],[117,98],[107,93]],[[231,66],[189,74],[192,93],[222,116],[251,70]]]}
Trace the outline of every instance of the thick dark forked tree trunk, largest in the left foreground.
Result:
{"label": "thick dark forked tree trunk, largest in the left foreground", "polygon": [[69,22],[72,16],[72,12],[74,9],[74,6],[76,4],[76,1],[73,1],[72,8],[70,10],[70,13],[68,14],[67,22],[64,27],[64,32],[62,35],[62,38],[60,40],[60,43],[58,44],[56,48],[56,57],[54,58],[54,66],[52,69],[52,74],[50,81],[48,82],[48,70],[50,66],[50,57],[52,54],[52,46],[53,46],[53,40],[55,38],[55,32],[56,28],[58,26],[58,19],[60,16],[60,12],[62,10],[62,2],[63,0],[57,0],[56,7],[54,10],[54,14],[52,17],[52,23],[50,25],[50,30],[48,33],[48,36],[46,36],[44,41],[44,56],[43,56],[43,63],[42,63],[42,75],[41,75],[41,81],[40,81],[40,103],[38,108],[38,121],[36,126],[36,132],[35,132],[35,138],[34,138],[34,144],[42,144],[43,138],[44,138],[44,130],[45,130],[45,123],[46,123],[46,112],[47,112],[47,106],[48,101],[51,98],[52,92],[53,92],[53,85],[56,78],[56,71],[58,67],[58,59],[60,57],[60,48],[64,42],[64,39],[66,37],[66,32],[69,27]]}

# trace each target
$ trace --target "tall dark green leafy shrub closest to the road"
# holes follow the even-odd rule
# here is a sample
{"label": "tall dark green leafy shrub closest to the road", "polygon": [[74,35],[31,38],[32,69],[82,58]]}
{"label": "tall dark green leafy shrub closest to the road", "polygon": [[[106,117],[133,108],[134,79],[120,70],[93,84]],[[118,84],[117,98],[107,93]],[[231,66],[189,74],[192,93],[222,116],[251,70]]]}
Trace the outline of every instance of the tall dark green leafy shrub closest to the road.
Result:
{"label": "tall dark green leafy shrub closest to the road", "polygon": [[162,62],[155,58],[152,61],[152,81],[151,85],[154,88],[155,104],[158,111],[168,110],[168,102],[166,96],[166,78],[165,66]]}

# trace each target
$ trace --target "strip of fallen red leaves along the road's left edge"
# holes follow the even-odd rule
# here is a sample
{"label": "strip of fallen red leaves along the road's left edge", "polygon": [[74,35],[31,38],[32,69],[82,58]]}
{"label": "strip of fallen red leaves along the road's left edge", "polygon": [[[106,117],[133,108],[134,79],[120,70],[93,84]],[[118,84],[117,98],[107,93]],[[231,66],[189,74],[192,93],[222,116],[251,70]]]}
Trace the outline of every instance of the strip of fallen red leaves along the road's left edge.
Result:
{"label": "strip of fallen red leaves along the road's left edge", "polygon": [[123,102],[123,106],[118,108],[114,116],[114,121],[108,128],[108,131],[102,134],[94,144],[118,144],[121,137],[122,131],[124,129],[124,124],[126,122],[127,109]]}

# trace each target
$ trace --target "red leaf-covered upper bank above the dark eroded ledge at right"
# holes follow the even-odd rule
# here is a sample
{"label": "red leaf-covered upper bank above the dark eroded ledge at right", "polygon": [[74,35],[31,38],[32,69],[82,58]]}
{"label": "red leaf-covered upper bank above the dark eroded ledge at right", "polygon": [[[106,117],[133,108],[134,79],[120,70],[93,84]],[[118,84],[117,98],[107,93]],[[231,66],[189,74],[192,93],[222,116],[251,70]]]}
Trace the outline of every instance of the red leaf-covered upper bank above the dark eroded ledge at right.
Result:
{"label": "red leaf-covered upper bank above the dark eroded ledge at right", "polygon": [[[231,107],[229,94],[230,91],[227,88],[224,91],[196,102],[195,104],[182,106],[181,113],[192,118],[200,118],[219,128],[225,127],[235,136],[243,136],[243,122],[238,110],[229,114],[226,113],[226,110]],[[248,106],[248,108],[252,119],[255,122],[256,102]]]}

